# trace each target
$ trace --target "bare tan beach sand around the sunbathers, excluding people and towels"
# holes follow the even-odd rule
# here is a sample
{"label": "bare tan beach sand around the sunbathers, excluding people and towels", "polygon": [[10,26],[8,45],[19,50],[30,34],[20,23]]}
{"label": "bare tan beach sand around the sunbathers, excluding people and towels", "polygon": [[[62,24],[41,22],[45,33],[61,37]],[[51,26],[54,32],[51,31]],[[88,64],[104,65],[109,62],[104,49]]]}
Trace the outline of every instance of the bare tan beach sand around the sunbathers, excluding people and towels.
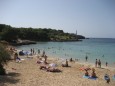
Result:
{"label": "bare tan beach sand around the sunbathers, excluding people and towels", "polygon": [[[81,71],[79,68],[87,66],[80,64],[79,62],[69,62],[71,67],[61,67],[61,61],[48,57],[48,63],[58,64],[57,68],[62,72],[52,73],[40,70],[40,64],[37,64],[38,58],[36,56],[27,58],[22,56],[21,63],[10,61],[5,69],[7,75],[0,76],[0,86],[115,86],[115,81],[112,76],[115,74],[115,70],[109,68],[95,68],[97,79],[83,78],[85,71]],[[91,65],[89,65],[92,68]],[[109,74],[110,83],[106,83],[104,80],[104,74]],[[91,74],[91,70],[89,71]]]}

